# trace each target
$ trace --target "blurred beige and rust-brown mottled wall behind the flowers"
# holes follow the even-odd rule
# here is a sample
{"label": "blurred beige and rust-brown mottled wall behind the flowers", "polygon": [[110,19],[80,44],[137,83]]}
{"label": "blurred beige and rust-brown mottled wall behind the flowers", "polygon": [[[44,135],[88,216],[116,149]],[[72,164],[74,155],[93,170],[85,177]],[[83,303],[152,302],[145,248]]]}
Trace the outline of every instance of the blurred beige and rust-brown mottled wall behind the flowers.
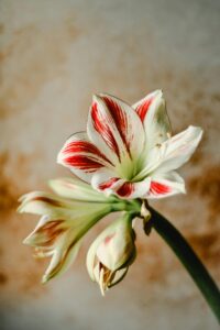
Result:
{"label": "blurred beige and rust-brown mottled wall behind the flowers", "polygon": [[22,245],[37,217],[15,209],[21,194],[70,175],[56,155],[85,130],[94,92],[132,103],[163,88],[174,131],[200,125],[205,138],[182,169],[188,194],[154,207],[220,283],[219,31],[218,0],[0,1],[0,329],[218,329],[174,254],[141,226],[138,260],[106,298],[85,267],[103,224],[68,273],[42,286],[46,262]]}

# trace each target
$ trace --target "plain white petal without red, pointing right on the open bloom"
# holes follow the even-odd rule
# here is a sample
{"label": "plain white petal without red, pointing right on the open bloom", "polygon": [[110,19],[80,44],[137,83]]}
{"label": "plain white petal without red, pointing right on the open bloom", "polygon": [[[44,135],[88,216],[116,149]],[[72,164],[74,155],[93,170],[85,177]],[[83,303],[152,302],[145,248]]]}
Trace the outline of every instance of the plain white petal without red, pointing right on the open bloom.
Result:
{"label": "plain white petal without red, pointing right on the open bloom", "polygon": [[202,136],[202,130],[189,127],[182,133],[168,139],[161,146],[160,172],[168,172],[184,165],[195,152]]}

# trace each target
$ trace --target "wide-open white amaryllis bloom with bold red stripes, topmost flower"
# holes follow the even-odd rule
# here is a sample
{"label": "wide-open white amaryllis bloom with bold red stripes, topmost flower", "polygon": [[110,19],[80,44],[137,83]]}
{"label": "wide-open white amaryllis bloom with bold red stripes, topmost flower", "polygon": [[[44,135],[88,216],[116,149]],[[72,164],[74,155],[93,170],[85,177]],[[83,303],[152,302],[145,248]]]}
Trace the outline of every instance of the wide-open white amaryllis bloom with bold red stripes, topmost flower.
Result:
{"label": "wide-open white amaryllis bloom with bold red stripes, topmost flower", "polygon": [[165,101],[156,90],[133,106],[110,95],[94,96],[87,132],[72,135],[57,162],[107,195],[162,198],[185,193],[175,172],[202,135],[189,127],[172,136]]}

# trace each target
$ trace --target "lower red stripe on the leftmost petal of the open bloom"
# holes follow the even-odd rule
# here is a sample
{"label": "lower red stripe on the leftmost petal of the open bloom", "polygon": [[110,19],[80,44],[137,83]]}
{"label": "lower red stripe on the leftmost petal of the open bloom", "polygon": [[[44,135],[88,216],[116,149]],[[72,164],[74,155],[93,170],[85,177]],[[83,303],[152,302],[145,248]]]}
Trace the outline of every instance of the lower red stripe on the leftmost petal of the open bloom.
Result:
{"label": "lower red stripe on the leftmost petal of the open bloom", "polygon": [[98,168],[103,167],[102,164],[82,155],[69,156],[64,158],[63,162],[68,166],[74,166],[88,173],[96,172]]}

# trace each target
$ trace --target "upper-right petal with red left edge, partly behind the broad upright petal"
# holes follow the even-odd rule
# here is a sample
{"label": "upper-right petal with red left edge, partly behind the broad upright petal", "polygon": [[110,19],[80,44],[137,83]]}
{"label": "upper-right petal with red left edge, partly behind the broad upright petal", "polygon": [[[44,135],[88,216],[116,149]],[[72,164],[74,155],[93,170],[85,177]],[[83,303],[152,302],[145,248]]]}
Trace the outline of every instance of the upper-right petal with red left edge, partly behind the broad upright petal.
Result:
{"label": "upper-right petal with red left edge, partly behind the broad upright petal", "polygon": [[170,123],[162,90],[155,90],[136,102],[133,108],[140,116],[146,135],[147,150],[170,136]]}

